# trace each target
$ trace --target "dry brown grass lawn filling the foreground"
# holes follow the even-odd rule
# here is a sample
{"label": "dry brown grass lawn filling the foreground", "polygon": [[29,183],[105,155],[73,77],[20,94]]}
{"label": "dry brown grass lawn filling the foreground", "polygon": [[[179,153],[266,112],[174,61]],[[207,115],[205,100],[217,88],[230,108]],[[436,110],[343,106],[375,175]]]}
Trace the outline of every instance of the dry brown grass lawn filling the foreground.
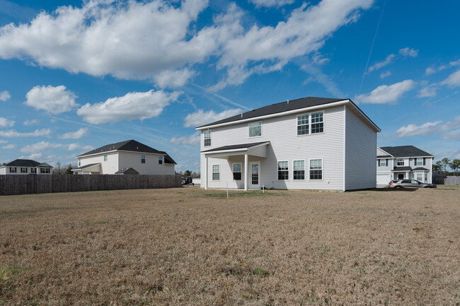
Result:
{"label": "dry brown grass lawn filling the foreground", "polygon": [[458,187],[231,194],[0,197],[0,305],[460,303]]}

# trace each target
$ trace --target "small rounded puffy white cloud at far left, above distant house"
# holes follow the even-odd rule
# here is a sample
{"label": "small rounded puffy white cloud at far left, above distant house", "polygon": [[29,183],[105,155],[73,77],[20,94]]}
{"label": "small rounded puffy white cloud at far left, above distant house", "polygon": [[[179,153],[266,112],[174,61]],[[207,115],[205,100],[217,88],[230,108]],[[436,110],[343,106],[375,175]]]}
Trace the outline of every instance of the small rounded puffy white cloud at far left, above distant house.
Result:
{"label": "small rounded puffy white cloud at far left, above distant house", "polygon": [[63,85],[61,86],[35,86],[25,95],[25,105],[34,107],[35,110],[45,110],[50,114],[69,112],[78,106],[74,93]]}

